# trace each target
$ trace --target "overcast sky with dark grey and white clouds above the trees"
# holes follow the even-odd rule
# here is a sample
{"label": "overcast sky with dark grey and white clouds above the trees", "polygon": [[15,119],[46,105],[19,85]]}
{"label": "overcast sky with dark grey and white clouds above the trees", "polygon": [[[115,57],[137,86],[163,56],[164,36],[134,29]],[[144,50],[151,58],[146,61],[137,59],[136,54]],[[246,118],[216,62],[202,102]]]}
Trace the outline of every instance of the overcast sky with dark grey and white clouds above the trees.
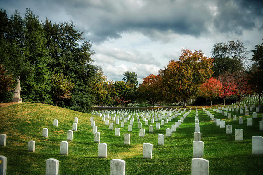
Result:
{"label": "overcast sky with dark grey and white clouds above the trees", "polygon": [[0,0],[0,7],[9,17],[30,8],[40,21],[73,21],[93,42],[94,64],[113,81],[134,71],[140,84],[178,60],[181,48],[210,57],[218,42],[239,38],[252,50],[263,38],[259,0]]}

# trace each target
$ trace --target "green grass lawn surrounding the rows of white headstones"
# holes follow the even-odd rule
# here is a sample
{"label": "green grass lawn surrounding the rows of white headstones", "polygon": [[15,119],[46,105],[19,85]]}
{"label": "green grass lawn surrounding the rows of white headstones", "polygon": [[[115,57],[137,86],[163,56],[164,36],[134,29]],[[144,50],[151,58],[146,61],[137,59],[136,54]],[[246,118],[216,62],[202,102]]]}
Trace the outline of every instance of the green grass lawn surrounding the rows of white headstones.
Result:
{"label": "green grass lawn surrounding the rows of white headstones", "polygon": [[[177,107],[178,109],[178,107]],[[263,108],[262,108],[263,109]],[[259,131],[259,121],[262,120],[262,109],[253,119],[253,126],[247,126],[245,114],[231,112],[237,115],[237,121],[213,113],[225,124],[232,125],[232,134],[226,135],[225,129],[216,126],[201,108],[198,109],[200,132],[204,142],[204,157],[209,160],[209,174],[263,174],[263,155],[252,156],[252,136],[263,136]],[[110,109],[107,109],[110,110]],[[120,109],[118,109],[120,110]],[[139,109],[141,110],[141,109]],[[186,112],[188,112],[187,107]],[[230,111],[229,111],[230,112]],[[255,111],[253,111],[255,112]],[[98,158],[98,143],[94,143],[90,116],[94,117],[101,142],[108,144],[107,158]],[[180,115],[182,116],[182,115]],[[67,140],[67,131],[72,130],[74,118],[78,117],[77,131],[73,140]],[[243,117],[243,125],[238,124],[238,117]],[[110,160],[118,158],[126,161],[126,175],[132,174],[191,174],[191,159],[193,158],[193,140],[195,127],[195,106],[182,125],[172,132],[172,137],[165,137],[164,146],[158,145],[158,134],[165,135],[165,129],[177,122],[177,117],[160,129],[149,133],[149,127],[142,121],[145,137],[139,137],[136,115],[133,131],[128,132],[129,121],[125,127],[115,122],[114,129],[101,120],[101,117],[56,106],[39,103],[12,104],[0,107],[0,134],[7,135],[6,146],[0,146],[0,155],[7,157],[7,174],[45,174],[46,159],[59,160],[59,174],[110,174]],[[53,120],[58,119],[58,127],[53,126]],[[158,121],[160,122],[160,120]],[[120,137],[115,136],[115,128],[120,128]],[[48,128],[48,138],[42,137],[42,129]],[[244,130],[244,141],[235,141],[235,129]],[[131,134],[131,144],[123,144],[123,135]],[[35,152],[27,151],[28,141],[36,142]],[[68,156],[60,155],[60,142],[69,142]],[[143,143],[153,144],[152,159],[142,159]]]}

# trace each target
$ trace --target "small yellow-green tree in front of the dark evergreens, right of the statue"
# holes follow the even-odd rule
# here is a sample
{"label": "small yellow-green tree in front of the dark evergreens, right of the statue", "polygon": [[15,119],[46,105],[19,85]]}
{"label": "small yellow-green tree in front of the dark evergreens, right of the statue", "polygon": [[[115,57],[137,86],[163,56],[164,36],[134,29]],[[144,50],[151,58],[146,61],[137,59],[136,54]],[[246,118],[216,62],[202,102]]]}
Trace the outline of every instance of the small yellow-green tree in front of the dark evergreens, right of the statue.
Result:
{"label": "small yellow-green tree in front of the dark evergreens, right of the statue", "polygon": [[54,74],[51,78],[51,88],[55,96],[56,106],[59,99],[70,99],[74,84],[70,82],[63,74]]}

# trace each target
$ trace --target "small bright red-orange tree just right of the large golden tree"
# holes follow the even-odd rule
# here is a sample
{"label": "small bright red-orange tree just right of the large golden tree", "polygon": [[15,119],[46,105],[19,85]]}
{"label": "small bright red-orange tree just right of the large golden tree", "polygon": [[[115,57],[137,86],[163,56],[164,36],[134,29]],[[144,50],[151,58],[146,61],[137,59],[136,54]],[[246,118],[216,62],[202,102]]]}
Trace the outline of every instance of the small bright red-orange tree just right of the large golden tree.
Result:
{"label": "small bright red-orange tree just right of the large golden tree", "polygon": [[222,83],[217,78],[209,78],[204,84],[200,86],[199,96],[211,100],[219,97],[222,90]]}

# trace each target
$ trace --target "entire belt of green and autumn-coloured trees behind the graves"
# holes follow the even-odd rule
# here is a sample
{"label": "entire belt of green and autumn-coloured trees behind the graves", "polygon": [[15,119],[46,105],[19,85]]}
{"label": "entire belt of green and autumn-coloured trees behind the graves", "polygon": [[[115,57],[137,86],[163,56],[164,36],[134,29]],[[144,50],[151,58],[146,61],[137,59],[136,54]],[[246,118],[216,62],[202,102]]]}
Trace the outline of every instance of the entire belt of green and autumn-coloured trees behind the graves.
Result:
{"label": "entire belt of green and autumn-coloured trees behind the graves", "polygon": [[[158,75],[143,78],[138,86],[135,72],[124,72],[122,81],[107,80],[100,67],[91,64],[92,43],[73,22],[40,22],[30,9],[24,17],[0,10],[0,102],[13,98],[19,75],[23,102],[53,104],[81,112],[93,105],[129,102],[186,102],[193,96],[224,100],[247,93],[262,95],[263,44],[256,45],[254,64],[245,65],[248,51],[242,41],[217,43],[212,58],[201,50],[182,49]],[[81,44],[79,44],[81,43]]]}

